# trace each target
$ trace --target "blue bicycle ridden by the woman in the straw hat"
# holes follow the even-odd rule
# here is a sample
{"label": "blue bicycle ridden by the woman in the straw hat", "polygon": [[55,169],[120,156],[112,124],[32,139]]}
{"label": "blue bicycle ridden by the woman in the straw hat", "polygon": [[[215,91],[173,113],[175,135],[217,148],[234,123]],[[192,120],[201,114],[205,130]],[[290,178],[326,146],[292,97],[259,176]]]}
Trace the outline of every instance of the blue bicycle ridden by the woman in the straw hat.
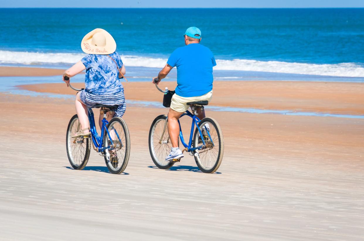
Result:
{"label": "blue bicycle ridden by the woman in the straw hat", "polygon": [[[76,91],[83,89],[75,89]],[[90,157],[91,144],[95,151],[104,156],[106,167],[113,174],[122,173],[129,161],[130,134],[125,121],[120,117],[114,117],[107,121],[107,116],[113,116],[117,105],[97,105],[100,114],[103,114],[101,135],[96,131],[94,113],[88,108],[88,120],[90,122],[91,136],[72,138],[81,128],[77,114],[74,115],[67,127],[66,147],[67,156],[74,169],[81,170],[86,167]]]}

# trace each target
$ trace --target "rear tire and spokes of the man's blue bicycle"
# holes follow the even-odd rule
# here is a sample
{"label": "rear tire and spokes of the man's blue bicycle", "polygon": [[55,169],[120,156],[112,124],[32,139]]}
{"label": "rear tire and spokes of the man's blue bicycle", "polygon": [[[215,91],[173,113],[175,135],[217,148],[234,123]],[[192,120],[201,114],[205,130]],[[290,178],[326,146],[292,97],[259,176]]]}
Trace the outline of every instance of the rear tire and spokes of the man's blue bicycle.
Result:
{"label": "rear tire and spokes of the man's blue bicycle", "polygon": [[[212,127],[215,129],[216,134],[214,133],[213,129],[210,127],[210,137],[207,137],[207,142],[211,142],[211,139],[213,140],[212,143],[214,143],[214,146],[211,147],[205,147],[201,150],[195,150],[194,153],[198,153],[198,156],[194,156],[195,162],[198,166],[198,168],[205,173],[214,173],[220,166],[222,162],[222,157],[224,153],[224,140],[222,136],[221,128],[218,124],[218,122],[213,118],[203,118],[199,123],[198,126],[201,129],[201,126],[204,126],[206,123],[209,123],[212,125]],[[197,147],[201,145],[201,143],[198,143],[199,138],[199,131],[196,127],[194,135],[193,135],[193,146]],[[216,143],[216,141],[218,143]],[[206,146],[211,143],[206,143]],[[214,149],[218,144],[218,150]],[[210,152],[211,151],[211,152]],[[207,154],[209,154],[209,163],[211,163],[211,167],[207,167],[205,160],[202,160],[204,157],[207,158]],[[211,155],[212,154],[212,155]],[[214,160],[213,162],[210,162],[210,160]],[[215,160],[216,159],[216,160]]]}

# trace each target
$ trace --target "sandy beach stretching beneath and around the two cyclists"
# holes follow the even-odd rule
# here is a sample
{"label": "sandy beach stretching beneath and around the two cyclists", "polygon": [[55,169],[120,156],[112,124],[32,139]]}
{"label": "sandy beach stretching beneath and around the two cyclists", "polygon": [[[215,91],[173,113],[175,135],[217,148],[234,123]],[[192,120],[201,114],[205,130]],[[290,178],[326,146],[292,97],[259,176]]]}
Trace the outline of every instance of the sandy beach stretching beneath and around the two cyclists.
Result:
{"label": "sandy beach stretching beneath and around the two cyclists", "polygon": [[[127,99],[162,99],[152,83],[123,85]],[[19,88],[75,94],[64,83]],[[223,81],[214,83],[211,105],[364,115],[363,93],[363,83]],[[207,106],[225,152],[218,171],[205,174],[189,155],[156,168],[147,137],[168,109],[129,105],[131,157],[123,175],[112,175],[93,150],[84,170],[70,167],[73,99],[0,93],[0,105],[0,240],[364,239],[364,119]]]}

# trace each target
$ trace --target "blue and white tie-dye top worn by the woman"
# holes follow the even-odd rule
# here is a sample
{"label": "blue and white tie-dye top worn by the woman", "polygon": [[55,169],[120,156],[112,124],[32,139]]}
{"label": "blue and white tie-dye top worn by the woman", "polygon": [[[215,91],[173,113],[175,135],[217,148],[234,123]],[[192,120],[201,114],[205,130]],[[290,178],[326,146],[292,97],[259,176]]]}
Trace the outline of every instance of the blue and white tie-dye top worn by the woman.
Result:
{"label": "blue and white tie-dye top worn by the woman", "polygon": [[[119,69],[123,67],[123,61],[118,53],[109,54],[118,64]],[[88,54],[81,62],[86,67],[85,86],[86,91],[92,94],[115,94],[124,91],[119,80],[118,68],[107,55]]]}

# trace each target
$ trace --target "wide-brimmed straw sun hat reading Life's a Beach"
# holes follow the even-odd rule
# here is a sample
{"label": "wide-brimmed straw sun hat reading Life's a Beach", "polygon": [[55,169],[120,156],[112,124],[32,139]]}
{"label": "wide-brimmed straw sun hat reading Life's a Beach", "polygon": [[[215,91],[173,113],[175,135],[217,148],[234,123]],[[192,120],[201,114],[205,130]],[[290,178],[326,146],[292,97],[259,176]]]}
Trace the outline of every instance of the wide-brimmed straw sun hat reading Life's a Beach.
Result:
{"label": "wide-brimmed straw sun hat reading Life's a Beach", "polygon": [[106,30],[96,28],[83,37],[81,48],[87,54],[106,55],[115,52],[116,42]]}

